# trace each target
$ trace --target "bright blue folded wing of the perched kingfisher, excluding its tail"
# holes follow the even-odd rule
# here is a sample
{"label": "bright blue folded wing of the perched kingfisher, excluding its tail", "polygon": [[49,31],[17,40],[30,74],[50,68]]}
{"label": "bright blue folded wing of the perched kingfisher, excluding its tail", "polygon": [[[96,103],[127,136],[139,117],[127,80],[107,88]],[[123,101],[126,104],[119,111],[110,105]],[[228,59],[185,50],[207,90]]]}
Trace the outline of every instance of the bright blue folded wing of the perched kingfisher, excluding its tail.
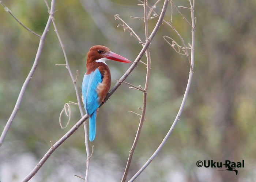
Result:
{"label": "bright blue folded wing of the perched kingfisher, excluding its tail", "polygon": [[83,103],[86,114],[91,115],[99,107],[101,103],[98,103],[97,86],[102,82],[101,73],[97,68],[89,75],[84,74],[82,83],[82,95]]}

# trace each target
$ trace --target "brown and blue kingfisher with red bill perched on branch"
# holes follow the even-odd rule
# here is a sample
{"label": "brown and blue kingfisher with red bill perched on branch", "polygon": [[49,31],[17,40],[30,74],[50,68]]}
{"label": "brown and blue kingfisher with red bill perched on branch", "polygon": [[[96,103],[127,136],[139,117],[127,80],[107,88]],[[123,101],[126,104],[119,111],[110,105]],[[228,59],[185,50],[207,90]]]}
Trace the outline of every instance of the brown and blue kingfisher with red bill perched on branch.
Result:
{"label": "brown and blue kingfisher with red bill perched on branch", "polygon": [[131,63],[128,59],[111,52],[105,46],[93,46],[87,53],[86,73],[83,77],[82,96],[86,114],[89,116],[89,140],[96,134],[98,107],[105,99],[111,84],[111,75],[106,60]]}

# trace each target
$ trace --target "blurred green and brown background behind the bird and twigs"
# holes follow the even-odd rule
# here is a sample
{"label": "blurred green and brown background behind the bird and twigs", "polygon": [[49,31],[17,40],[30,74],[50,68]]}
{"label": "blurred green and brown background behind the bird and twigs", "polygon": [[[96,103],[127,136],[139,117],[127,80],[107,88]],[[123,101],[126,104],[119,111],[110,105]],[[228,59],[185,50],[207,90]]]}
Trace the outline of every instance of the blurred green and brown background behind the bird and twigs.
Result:
{"label": "blurred green and brown background behind the bird and twigs", "polygon": [[[50,3],[50,1],[48,0]],[[16,0],[3,3],[31,30],[42,34],[48,20],[43,0]],[[142,46],[117,27],[119,14],[144,41],[139,1],[62,0],[56,1],[54,18],[67,52],[73,74],[79,70],[78,87],[86,72],[86,54],[100,44],[134,60]],[[153,5],[155,1],[148,2]],[[160,13],[163,0],[155,7]],[[189,7],[188,0],[174,4]],[[190,11],[180,9],[190,20]],[[251,182],[256,181],[256,1],[196,0],[195,67],[192,85],[180,121],[161,152],[136,179],[138,182]],[[171,21],[168,4],[166,21]],[[185,43],[191,43],[191,28],[173,10],[173,25]],[[149,32],[157,19],[149,20]],[[39,38],[21,27],[0,6],[0,132],[15,106],[20,88],[37,52]],[[178,55],[163,36],[175,39],[175,32],[163,24],[150,45],[152,58],[146,120],[133,154],[128,179],[147,161],[162,142],[180,107],[189,74],[188,60]],[[142,61],[146,61],[143,56]],[[68,127],[61,129],[59,115],[65,103],[76,102],[74,86],[53,25],[45,39],[37,70],[25,92],[18,114],[0,147],[0,181],[18,182],[34,168],[52,143],[61,138],[79,119],[71,106]],[[108,62],[112,86],[130,64]],[[127,82],[144,87],[146,66],[139,63]],[[97,135],[89,143],[95,150],[90,162],[89,181],[121,181],[139,124],[142,92],[122,84],[97,116]],[[63,116],[63,122],[67,118]],[[196,162],[241,162],[244,168],[218,171],[197,167]],[[45,162],[31,182],[79,182],[85,175],[84,129],[80,127]],[[224,168],[225,169],[225,168]]]}

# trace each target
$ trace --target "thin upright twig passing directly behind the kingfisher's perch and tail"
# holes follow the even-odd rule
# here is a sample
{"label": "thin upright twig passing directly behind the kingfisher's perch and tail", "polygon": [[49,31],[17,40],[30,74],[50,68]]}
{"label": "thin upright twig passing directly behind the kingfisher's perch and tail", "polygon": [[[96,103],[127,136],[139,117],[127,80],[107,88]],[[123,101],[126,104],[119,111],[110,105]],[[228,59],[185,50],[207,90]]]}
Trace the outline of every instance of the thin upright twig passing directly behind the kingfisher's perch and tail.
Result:
{"label": "thin upright twig passing directly behind the kingfisher's perch and tail", "polygon": [[[47,1],[46,1],[46,0],[44,0],[44,1],[45,1],[45,3],[46,3],[46,6],[47,6],[48,9],[49,9],[49,5],[48,5]],[[70,77],[71,77],[71,79],[72,79],[72,82],[73,82],[73,84],[74,84],[74,88],[75,88],[75,92],[76,92],[76,98],[77,98],[77,102],[78,102],[78,108],[79,108],[79,110],[80,110],[81,117],[83,117],[83,116],[84,116],[84,113],[83,113],[83,109],[82,109],[82,105],[81,105],[81,101],[80,101],[80,96],[79,96],[78,88],[77,88],[77,86],[76,86],[76,79],[77,79],[77,77],[78,77],[78,70],[76,71],[76,79],[74,79],[74,76],[73,76],[73,74],[72,74],[72,72],[71,72],[71,69],[70,69],[70,67],[69,67],[67,54],[66,54],[66,52],[65,52],[65,47],[64,47],[64,44],[62,43],[61,38],[60,38],[60,35],[59,35],[59,33],[58,33],[58,30],[57,30],[57,27],[56,27],[56,24],[55,24],[55,21],[54,21],[53,14],[50,13],[50,12],[49,12],[49,14],[50,14],[50,16],[51,16],[51,18],[52,18],[52,23],[53,23],[53,26],[54,26],[54,30],[55,30],[55,32],[56,32],[56,35],[57,35],[57,37],[58,37],[58,39],[59,39],[61,48],[62,48],[62,50],[63,50],[65,62],[66,62],[66,65],[67,65],[66,67],[67,67],[67,69],[68,69],[69,75],[70,75]],[[86,122],[84,122],[84,136],[85,136],[85,142],[84,142],[84,143],[85,143],[85,147],[86,147],[86,156],[87,156],[87,160],[86,160],[86,175],[85,175],[85,177],[84,177],[84,181],[87,182],[88,174],[89,174],[89,164],[90,164],[90,151],[89,151],[89,145],[88,145],[87,123],[86,123]]]}

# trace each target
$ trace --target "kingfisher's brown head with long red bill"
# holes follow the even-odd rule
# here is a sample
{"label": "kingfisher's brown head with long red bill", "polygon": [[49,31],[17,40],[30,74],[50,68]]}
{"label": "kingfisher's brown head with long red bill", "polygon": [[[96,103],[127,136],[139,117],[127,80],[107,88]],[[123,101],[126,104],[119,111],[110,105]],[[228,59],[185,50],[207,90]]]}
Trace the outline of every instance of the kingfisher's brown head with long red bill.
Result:
{"label": "kingfisher's brown head with long red bill", "polygon": [[111,52],[110,49],[105,46],[93,46],[90,48],[89,52],[87,53],[87,64],[93,63],[93,62],[105,63],[105,61],[108,59],[124,62],[124,63],[131,63],[131,61],[124,58],[123,56],[120,56],[114,52]]}

